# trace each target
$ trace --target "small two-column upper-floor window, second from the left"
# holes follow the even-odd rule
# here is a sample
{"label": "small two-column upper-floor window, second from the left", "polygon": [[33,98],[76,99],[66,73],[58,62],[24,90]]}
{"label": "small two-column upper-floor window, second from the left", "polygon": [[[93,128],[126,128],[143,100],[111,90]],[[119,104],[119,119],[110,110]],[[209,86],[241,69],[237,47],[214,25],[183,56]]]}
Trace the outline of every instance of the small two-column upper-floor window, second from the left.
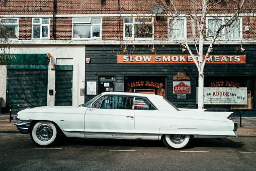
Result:
{"label": "small two-column upper-floor window, second from the left", "polygon": [[50,38],[50,18],[32,19],[32,38],[49,39]]}

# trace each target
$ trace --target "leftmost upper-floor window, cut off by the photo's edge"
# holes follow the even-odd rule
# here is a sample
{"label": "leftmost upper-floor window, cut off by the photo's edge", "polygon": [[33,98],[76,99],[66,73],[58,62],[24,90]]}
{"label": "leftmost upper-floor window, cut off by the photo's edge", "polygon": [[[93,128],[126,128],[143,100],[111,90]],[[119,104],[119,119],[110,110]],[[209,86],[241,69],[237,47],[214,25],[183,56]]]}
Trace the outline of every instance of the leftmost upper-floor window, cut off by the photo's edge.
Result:
{"label": "leftmost upper-floor window, cut off by the photo's edge", "polygon": [[1,19],[1,38],[18,39],[19,37],[19,19]]}

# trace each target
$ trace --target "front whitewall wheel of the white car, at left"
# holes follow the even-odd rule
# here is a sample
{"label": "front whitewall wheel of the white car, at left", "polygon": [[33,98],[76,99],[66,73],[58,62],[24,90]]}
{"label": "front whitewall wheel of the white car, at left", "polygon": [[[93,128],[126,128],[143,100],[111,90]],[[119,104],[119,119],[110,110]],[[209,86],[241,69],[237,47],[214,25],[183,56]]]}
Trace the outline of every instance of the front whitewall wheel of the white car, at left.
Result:
{"label": "front whitewall wheel of the white car, at left", "polygon": [[38,146],[52,146],[60,136],[58,126],[49,121],[37,122],[30,132],[32,141]]}

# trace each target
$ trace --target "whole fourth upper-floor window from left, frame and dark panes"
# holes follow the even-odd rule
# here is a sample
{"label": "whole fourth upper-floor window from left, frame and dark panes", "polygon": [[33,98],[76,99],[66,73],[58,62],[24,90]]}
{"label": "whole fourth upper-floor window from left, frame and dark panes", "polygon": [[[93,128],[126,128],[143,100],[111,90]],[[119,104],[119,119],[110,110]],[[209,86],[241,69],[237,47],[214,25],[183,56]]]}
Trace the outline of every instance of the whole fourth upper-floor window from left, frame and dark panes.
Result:
{"label": "whole fourth upper-floor window from left, frame and dark panes", "polygon": [[153,38],[153,18],[125,17],[124,38]]}

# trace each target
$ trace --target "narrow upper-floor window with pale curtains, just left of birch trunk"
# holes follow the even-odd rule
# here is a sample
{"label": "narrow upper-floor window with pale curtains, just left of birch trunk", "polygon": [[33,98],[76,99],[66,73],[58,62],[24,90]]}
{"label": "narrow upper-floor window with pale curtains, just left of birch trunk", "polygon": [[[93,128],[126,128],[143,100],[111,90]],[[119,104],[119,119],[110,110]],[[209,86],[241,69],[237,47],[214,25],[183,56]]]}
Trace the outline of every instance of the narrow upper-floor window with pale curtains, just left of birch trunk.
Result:
{"label": "narrow upper-floor window with pale curtains, just left of birch trunk", "polygon": [[[187,37],[187,31],[185,29],[186,18],[177,18],[168,20],[168,36],[169,39],[183,39]],[[180,28],[180,29],[179,29]]]}

